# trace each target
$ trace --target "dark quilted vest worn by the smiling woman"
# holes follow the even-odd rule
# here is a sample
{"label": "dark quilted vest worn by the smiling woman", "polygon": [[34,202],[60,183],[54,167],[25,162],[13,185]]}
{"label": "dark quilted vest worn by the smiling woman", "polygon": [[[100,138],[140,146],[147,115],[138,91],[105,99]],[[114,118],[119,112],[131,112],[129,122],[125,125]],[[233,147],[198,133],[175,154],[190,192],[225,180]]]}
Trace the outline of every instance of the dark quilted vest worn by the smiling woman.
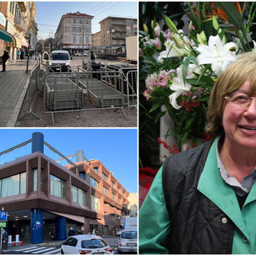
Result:
{"label": "dark quilted vest worn by the smiling woman", "polygon": [[164,163],[162,185],[170,214],[170,254],[232,253],[234,223],[197,190],[211,145],[206,142]]}

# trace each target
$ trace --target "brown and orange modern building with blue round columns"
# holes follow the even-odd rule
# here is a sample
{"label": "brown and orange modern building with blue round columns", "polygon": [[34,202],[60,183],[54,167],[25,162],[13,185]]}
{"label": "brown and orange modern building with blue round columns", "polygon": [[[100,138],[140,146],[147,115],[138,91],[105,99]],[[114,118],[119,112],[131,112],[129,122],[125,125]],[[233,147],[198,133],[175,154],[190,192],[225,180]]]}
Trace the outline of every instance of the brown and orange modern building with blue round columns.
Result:
{"label": "brown and orange modern building with blue round columns", "polygon": [[53,232],[56,240],[66,239],[71,227],[84,234],[115,234],[122,216],[129,214],[129,193],[118,178],[100,160],[86,160],[82,150],[76,163],[66,158],[68,166],[58,164],[43,153],[46,145],[59,154],[41,133],[16,147],[28,143],[31,154],[0,166],[0,204],[8,212],[8,235],[40,243]]}

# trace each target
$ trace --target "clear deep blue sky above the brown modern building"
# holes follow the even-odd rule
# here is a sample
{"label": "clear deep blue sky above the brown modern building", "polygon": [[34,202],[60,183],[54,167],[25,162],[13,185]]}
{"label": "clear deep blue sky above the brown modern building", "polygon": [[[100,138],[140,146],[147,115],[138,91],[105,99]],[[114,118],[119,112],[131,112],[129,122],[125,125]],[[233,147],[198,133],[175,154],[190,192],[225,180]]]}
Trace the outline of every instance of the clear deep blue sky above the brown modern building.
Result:
{"label": "clear deep blue sky above the brown modern building", "polygon": [[[30,140],[34,132],[44,134],[44,141],[66,157],[83,150],[87,159],[100,160],[113,172],[129,193],[138,192],[137,129],[0,129],[0,152]],[[0,155],[0,164],[27,154],[31,154],[31,143]],[[47,146],[44,154],[54,160],[61,158]],[[75,157],[70,160],[76,162]]]}

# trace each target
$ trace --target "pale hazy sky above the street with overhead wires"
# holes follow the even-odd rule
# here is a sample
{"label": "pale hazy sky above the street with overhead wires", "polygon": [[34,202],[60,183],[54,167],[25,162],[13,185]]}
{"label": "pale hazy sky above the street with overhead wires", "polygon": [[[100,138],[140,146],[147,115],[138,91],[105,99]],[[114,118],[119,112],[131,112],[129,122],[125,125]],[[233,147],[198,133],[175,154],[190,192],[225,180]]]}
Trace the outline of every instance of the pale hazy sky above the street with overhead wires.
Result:
{"label": "pale hazy sky above the street with overhead wires", "polygon": [[35,2],[37,7],[36,22],[38,23],[38,38],[54,38],[62,15],[69,12],[94,16],[92,33],[100,30],[98,22],[108,16],[138,18],[138,2]]}

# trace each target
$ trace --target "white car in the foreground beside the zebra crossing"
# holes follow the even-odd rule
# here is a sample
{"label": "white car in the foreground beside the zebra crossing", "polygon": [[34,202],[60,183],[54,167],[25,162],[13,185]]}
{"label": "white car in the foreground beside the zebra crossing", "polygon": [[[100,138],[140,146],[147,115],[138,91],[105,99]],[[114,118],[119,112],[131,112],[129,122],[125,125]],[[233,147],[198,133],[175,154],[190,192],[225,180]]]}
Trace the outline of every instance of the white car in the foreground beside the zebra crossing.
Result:
{"label": "white car in the foreground beside the zebra crossing", "polygon": [[97,235],[79,234],[62,243],[61,254],[113,254],[112,248]]}

